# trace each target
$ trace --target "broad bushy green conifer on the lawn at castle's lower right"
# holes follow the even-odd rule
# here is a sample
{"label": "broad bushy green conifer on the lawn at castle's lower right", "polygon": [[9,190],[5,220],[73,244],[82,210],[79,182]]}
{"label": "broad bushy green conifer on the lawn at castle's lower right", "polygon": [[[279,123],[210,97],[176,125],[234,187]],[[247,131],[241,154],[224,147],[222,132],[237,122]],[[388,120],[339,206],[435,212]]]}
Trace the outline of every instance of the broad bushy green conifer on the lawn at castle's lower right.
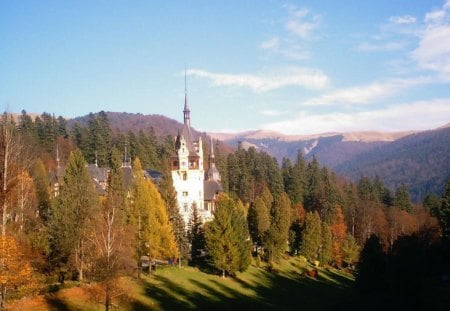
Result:
{"label": "broad bushy green conifer on the lawn at castle's lower right", "polygon": [[226,274],[244,271],[250,264],[250,242],[244,211],[223,194],[213,221],[205,225],[206,249],[213,267]]}

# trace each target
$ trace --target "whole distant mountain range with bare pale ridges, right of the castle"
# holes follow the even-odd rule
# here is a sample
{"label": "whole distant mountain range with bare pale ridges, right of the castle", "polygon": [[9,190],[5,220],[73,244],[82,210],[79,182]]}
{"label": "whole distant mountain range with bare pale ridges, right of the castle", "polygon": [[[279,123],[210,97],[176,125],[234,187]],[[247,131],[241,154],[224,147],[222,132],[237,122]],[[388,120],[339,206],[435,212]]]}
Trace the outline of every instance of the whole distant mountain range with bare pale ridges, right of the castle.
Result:
{"label": "whole distant mountain range with bare pale ridges, right of the castle", "polygon": [[[298,151],[353,181],[380,176],[394,190],[405,183],[415,201],[428,193],[441,194],[450,179],[450,124],[424,132],[353,132],[283,135],[249,131],[211,134],[233,146],[253,146],[279,161],[295,160]],[[281,162],[280,162],[281,163]]]}

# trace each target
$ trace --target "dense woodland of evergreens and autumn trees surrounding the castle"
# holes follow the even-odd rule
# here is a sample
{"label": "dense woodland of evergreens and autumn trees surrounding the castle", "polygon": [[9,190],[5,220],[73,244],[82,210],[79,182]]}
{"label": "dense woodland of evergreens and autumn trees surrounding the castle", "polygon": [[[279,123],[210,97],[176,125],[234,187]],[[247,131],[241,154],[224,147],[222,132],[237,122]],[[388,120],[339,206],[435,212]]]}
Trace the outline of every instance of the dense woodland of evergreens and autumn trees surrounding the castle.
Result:
{"label": "dense woodland of evergreens and autumn trees surrounding the castle", "polygon": [[[108,309],[115,280],[139,277],[146,257],[226,277],[252,262],[303,256],[355,273],[362,295],[389,297],[448,279],[450,183],[443,196],[413,204],[405,185],[390,191],[378,177],[351,183],[301,153],[280,164],[254,148],[224,152],[217,142],[224,193],[214,220],[202,225],[194,206],[184,224],[168,171],[170,135],[113,131],[104,112],[70,128],[48,113],[33,119],[23,111],[16,120],[5,113],[0,131],[1,308],[9,297],[70,279],[101,283]],[[128,158],[131,181],[122,168]],[[88,163],[109,169],[105,193]],[[155,185],[143,169],[164,177]],[[410,280],[423,265],[432,268]],[[409,287],[398,292],[396,284]]]}

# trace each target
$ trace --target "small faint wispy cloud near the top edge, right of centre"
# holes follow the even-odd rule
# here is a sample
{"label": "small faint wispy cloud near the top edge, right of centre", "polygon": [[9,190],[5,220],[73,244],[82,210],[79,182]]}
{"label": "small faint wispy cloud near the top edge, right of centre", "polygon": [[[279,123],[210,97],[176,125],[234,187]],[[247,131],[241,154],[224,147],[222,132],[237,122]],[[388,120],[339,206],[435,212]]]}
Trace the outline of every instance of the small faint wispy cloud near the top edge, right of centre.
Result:
{"label": "small faint wispy cloud near the top edge, right of centre", "polygon": [[305,39],[319,27],[320,15],[312,15],[306,8],[298,9],[292,5],[285,7],[288,10],[289,17],[284,26],[290,33]]}

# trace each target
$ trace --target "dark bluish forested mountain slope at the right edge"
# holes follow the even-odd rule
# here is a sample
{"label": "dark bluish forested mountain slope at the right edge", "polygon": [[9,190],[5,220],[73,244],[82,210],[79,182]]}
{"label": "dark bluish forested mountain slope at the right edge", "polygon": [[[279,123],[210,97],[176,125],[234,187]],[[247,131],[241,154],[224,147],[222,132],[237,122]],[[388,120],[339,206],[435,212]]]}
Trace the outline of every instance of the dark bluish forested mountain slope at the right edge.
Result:
{"label": "dark bluish forested mountain slope at the right edge", "polygon": [[348,159],[334,169],[356,180],[380,176],[392,189],[405,183],[413,199],[442,193],[450,179],[450,128],[412,134]]}

